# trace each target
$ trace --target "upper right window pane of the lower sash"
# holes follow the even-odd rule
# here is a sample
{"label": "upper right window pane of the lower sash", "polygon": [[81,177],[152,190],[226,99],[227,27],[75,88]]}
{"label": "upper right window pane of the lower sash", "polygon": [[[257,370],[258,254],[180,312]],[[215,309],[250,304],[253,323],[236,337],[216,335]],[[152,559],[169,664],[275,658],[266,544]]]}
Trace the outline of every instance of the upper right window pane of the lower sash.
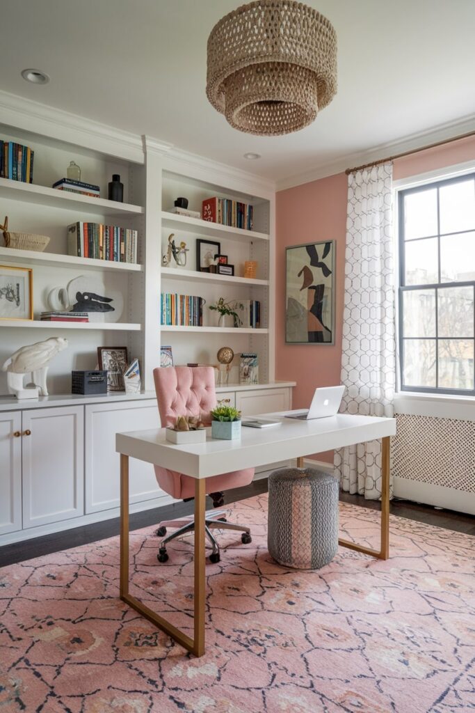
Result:
{"label": "upper right window pane of the lower sash", "polygon": [[439,337],[473,337],[474,288],[444,287],[438,299]]}

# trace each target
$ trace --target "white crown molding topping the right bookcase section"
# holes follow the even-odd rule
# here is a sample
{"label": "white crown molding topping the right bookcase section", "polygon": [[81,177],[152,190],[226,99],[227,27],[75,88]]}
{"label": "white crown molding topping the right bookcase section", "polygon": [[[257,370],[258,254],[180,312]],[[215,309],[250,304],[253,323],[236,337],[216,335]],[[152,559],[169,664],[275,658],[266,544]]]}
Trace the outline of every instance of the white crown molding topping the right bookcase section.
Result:
{"label": "white crown molding topping the right bookcase section", "polygon": [[259,198],[271,198],[276,192],[276,183],[273,180],[175,146],[165,155],[163,168],[171,173],[182,172],[190,178],[226,186],[246,195],[255,193]]}

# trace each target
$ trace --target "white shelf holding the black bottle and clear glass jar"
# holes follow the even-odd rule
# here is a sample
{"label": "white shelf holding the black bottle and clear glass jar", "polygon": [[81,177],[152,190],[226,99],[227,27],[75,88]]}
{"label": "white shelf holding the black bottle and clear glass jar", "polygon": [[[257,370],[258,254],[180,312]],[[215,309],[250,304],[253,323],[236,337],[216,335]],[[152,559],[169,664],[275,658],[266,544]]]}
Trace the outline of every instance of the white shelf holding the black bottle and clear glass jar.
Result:
{"label": "white shelf holding the black bottle and clear glass jar", "polygon": [[142,215],[141,205],[118,203],[105,198],[93,198],[89,195],[68,193],[68,191],[46,188],[34,183],[0,178],[0,197],[13,200],[23,200],[38,205],[61,207],[69,210],[83,210],[96,215]]}

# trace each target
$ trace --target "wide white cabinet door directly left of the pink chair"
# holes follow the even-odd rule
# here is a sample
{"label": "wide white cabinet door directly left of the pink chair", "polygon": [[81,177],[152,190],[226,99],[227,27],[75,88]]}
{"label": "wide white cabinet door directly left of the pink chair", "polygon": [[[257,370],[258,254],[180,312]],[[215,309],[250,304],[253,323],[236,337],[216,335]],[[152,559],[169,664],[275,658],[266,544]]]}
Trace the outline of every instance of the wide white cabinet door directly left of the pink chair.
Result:
{"label": "wide white cabinet door directly left of the pink chair", "polygon": [[[157,401],[94,404],[85,407],[85,511],[95,513],[120,506],[120,463],[115,434],[157,429]],[[130,503],[165,496],[150,463],[130,460]]]}

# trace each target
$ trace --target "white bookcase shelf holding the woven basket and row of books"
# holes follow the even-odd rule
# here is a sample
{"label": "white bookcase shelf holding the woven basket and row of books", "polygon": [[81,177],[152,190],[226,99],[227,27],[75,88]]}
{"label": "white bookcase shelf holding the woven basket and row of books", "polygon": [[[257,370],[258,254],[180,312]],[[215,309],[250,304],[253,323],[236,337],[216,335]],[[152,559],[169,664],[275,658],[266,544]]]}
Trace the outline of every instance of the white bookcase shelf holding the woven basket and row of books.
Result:
{"label": "white bookcase shelf holding the woven basket and row of books", "polygon": [[45,267],[85,267],[88,270],[110,270],[112,272],[143,272],[142,265],[132,262],[113,262],[112,260],[94,260],[92,257],[75,257],[56,252],[36,252],[35,250],[16,250],[0,247],[0,262],[15,262],[26,265],[44,265]]}

